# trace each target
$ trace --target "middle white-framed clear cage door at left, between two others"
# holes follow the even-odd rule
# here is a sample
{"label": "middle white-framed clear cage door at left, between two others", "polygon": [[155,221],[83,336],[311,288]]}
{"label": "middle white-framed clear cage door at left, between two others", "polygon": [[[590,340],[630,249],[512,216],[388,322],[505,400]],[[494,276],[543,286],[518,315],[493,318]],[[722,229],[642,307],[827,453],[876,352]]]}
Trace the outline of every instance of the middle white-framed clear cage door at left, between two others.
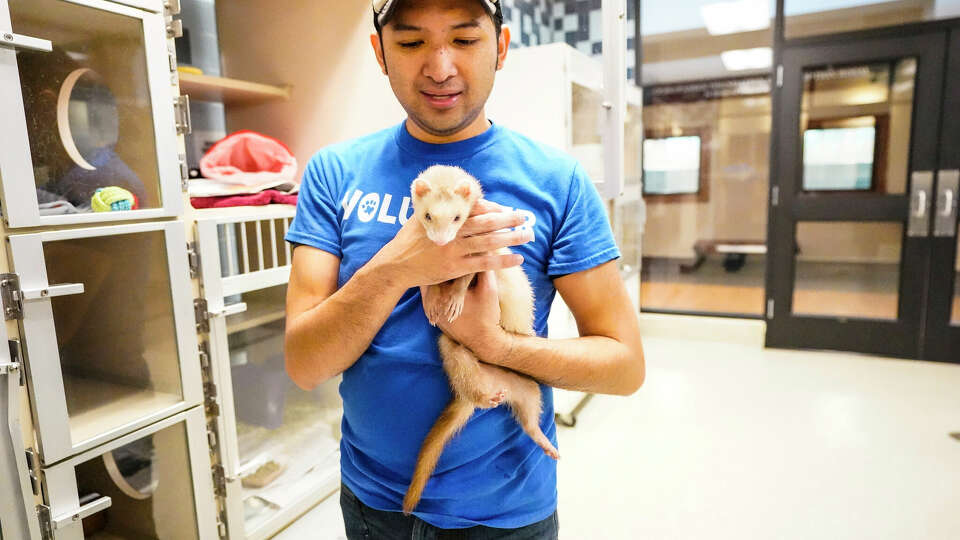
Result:
{"label": "middle white-framed clear cage door at left, between two others", "polygon": [[183,224],[9,237],[42,460],[202,399]]}

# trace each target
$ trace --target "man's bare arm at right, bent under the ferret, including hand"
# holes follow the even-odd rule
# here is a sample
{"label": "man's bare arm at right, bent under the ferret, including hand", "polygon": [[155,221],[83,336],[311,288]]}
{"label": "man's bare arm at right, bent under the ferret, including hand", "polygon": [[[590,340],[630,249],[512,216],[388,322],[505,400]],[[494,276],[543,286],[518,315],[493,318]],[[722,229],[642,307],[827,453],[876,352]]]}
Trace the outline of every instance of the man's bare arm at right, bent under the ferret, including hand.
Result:
{"label": "man's bare arm at right, bent under the ferret, including hand", "polygon": [[639,321],[616,262],[558,277],[554,286],[577,321],[578,338],[504,331],[499,326],[496,279],[490,273],[467,291],[460,318],[440,327],[480,360],[549,386],[620,395],[640,388],[646,370]]}

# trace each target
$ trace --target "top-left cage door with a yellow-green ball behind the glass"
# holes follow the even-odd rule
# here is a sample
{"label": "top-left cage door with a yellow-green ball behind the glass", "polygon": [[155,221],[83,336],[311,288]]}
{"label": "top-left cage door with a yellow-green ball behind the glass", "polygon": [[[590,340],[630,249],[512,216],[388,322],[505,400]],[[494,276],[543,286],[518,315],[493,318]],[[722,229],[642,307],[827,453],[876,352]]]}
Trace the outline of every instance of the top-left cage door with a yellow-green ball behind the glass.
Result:
{"label": "top-left cage door with a yellow-green ball behind the glass", "polygon": [[0,179],[10,227],[181,212],[162,14],[0,0]]}

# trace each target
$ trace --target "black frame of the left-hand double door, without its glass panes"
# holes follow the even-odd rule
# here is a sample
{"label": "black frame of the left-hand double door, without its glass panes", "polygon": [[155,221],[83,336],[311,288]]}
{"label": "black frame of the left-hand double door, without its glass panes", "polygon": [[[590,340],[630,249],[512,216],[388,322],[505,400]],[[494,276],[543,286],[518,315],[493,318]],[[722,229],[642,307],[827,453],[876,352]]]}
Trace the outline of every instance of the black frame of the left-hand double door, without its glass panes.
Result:
{"label": "black frame of the left-hand double door, without its glass panes", "polygon": [[[782,24],[782,16],[778,14],[777,25],[781,29]],[[919,336],[926,317],[930,248],[926,238],[907,235],[909,187],[906,194],[883,196],[869,204],[862,204],[871,199],[865,195],[837,194],[827,200],[801,195],[797,189],[802,178],[802,162],[800,133],[796,127],[805,67],[916,57],[908,171],[936,170],[939,129],[923,127],[939,127],[941,120],[939,107],[929,104],[939,104],[942,98],[947,36],[943,28],[944,21],[935,21],[777,43],[766,284],[768,347],[836,349],[906,358],[921,356]],[[908,174],[908,179],[911,176]],[[851,206],[851,203],[858,204]],[[898,320],[793,315],[798,221],[902,222]]]}

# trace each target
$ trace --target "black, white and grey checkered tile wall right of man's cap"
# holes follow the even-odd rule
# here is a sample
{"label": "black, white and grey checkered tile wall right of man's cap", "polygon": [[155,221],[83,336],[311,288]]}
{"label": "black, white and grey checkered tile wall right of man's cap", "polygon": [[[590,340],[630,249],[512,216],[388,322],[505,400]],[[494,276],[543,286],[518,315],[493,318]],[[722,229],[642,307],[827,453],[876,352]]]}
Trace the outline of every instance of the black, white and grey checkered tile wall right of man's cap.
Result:
{"label": "black, white and grey checkered tile wall right of man's cap", "polygon": [[[627,0],[627,78],[634,79],[637,0]],[[601,0],[503,0],[512,46],[565,41],[585,54],[603,51]]]}

